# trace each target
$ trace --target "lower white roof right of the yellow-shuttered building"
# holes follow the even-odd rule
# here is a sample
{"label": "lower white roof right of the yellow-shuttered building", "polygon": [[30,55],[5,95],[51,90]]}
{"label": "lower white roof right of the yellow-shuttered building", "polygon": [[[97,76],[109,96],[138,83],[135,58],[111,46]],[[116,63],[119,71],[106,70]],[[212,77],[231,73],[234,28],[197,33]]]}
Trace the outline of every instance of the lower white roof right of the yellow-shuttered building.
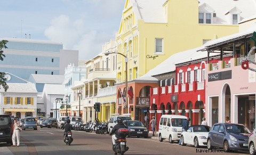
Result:
{"label": "lower white roof right of the yellow-shuttered building", "polygon": [[45,94],[65,95],[64,89],[62,84],[45,84],[43,92]]}

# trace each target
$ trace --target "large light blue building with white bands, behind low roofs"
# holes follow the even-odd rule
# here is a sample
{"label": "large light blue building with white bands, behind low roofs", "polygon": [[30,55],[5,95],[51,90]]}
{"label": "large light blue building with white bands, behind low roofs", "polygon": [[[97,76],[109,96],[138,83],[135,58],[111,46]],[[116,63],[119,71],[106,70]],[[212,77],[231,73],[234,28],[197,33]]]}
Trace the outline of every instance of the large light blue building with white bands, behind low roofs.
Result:
{"label": "large light blue building with white bands, behind low roofs", "polygon": [[70,63],[78,66],[78,51],[63,50],[62,43],[20,38],[1,40],[9,41],[8,48],[2,49],[6,57],[0,61],[1,72],[27,80],[31,74],[64,75]]}

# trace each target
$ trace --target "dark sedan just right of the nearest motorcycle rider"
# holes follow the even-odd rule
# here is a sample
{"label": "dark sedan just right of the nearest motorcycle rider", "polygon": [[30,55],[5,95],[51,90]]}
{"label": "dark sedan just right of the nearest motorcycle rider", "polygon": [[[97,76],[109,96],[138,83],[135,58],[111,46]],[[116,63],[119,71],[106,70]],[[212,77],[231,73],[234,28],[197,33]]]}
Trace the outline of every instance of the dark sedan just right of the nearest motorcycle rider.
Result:
{"label": "dark sedan just right of the nearest motorcycle rider", "polygon": [[148,137],[148,129],[138,120],[127,120],[127,126],[130,130],[129,137]]}

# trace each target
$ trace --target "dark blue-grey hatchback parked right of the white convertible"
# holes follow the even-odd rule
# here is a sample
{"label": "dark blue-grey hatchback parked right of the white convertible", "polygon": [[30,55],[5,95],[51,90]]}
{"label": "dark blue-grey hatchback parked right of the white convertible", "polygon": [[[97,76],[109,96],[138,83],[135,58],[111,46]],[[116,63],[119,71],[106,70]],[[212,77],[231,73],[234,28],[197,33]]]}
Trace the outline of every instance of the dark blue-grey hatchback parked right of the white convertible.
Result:
{"label": "dark blue-grey hatchback parked right of the white convertible", "polygon": [[242,124],[214,124],[207,138],[207,148],[223,148],[223,150],[248,151],[250,130]]}

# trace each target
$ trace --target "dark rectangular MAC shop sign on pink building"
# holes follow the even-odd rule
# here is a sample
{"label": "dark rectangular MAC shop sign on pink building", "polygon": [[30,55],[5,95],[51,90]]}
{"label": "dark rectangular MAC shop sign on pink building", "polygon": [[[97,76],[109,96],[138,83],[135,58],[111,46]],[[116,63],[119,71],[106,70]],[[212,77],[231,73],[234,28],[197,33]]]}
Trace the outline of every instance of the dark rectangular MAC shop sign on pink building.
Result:
{"label": "dark rectangular MAC shop sign on pink building", "polygon": [[228,71],[221,71],[221,72],[214,72],[212,74],[208,74],[208,81],[219,81],[219,80],[226,80],[232,78],[232,70]]}

